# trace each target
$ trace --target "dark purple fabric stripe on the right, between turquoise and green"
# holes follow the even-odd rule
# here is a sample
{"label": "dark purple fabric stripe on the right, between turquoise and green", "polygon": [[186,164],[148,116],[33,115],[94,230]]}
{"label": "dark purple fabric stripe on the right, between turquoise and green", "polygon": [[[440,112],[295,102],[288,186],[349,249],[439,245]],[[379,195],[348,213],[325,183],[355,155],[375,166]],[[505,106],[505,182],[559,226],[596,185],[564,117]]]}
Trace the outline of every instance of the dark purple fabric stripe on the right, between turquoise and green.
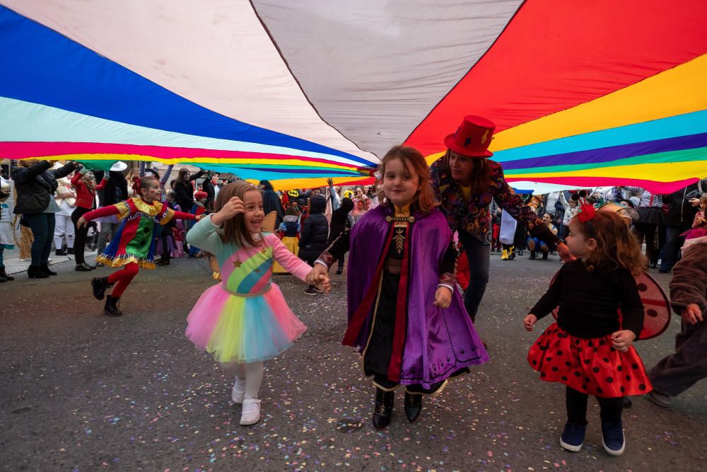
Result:
{"label": "dark purple fabric stripe on the right, between turquoise and green", "polygon": [[682,151],[696,147],[707,146],[707,133],[689,134],[667,139],[657,139],[655,141],[644,141],[622,146],[612,146],[605,148],[590,149],[588,151],[568,152],[565,154],[554,154],[553,156],[532,157],[530,159],[520,159],[518,161],[498,162],[503,163],[503,168],[523,169],[533,167],[548,166],[569,166],[572,164],[590,164],[616,161],[629,157],[645,156],[667,151]]}

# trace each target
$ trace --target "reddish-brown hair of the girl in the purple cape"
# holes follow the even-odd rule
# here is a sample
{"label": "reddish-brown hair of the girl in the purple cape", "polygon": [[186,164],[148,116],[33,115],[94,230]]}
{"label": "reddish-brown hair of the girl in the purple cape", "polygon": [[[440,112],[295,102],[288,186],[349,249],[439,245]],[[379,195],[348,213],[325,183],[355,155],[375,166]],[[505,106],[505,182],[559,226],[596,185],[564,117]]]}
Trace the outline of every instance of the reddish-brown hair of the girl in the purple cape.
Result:
{"label": "reddish-brown hair of the girl in the purple cape", "polygon": [[431,212],[439,203],[435,198],[432,185],[430,185],[430,168],[425,161],[425,156],[414,147],[392,146],[390,151],[387,151],[385,156],[383,156],[380,166],[378,166],[378,201],[382,202],[382,205],[390,205],[390,202],[385,199],[382,183],[385,175],[385,164],[393,159],[400,159],[403,166],[409,171],[416,173],[419,178],[420,190],[415,194],[411,207],[423,213]]}

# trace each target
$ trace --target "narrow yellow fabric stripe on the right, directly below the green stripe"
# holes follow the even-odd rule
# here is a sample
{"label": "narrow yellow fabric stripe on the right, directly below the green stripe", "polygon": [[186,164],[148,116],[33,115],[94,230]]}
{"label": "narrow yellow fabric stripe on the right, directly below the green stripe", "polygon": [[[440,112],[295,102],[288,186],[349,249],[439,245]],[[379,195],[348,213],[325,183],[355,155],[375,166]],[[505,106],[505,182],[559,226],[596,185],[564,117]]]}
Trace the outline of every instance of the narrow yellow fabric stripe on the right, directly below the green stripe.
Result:
{"label": "narrow yellow fabric stripe on the right, directly below the green stripe", "polygon": [[707,173],[707,156],[702,161],[666,162],[650,164],[634,164],[632,166],[607,166],[586,169],[583,171],[521,173],[507,175],[512,180],[532,180],[532,178],[548,177],[612,177],[637,180],[655,180],[657,182],[673,182],[687,178],[702,178]]}

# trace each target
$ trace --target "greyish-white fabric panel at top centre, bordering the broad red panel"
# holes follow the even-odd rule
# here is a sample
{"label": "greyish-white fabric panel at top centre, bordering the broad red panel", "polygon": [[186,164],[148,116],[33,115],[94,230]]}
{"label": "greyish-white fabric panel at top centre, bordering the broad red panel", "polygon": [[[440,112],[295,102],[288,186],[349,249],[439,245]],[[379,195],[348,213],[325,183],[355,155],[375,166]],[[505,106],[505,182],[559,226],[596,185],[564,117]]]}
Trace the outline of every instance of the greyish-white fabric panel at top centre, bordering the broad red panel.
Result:
{"label": "greyish-white fabric panel at top centre, bordering the broad red panel", "polygon": [[424,120],[521,3],[253,0],[320,115],[378,156]]}

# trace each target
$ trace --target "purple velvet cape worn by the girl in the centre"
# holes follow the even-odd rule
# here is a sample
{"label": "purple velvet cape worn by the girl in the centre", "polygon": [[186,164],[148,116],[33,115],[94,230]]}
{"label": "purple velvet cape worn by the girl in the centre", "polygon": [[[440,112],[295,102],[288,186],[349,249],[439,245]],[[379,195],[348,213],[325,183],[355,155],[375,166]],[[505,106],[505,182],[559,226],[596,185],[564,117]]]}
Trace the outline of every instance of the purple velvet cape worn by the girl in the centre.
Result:
{"label": "purple velvet cape worn by the girl in the centre", "polygon": [[[351,231],[349,252],[349,321],[363,301],[373,280],[375,268],[390,231],[385,217],[392,208],[380,205],[367,212]],[[452,240],[452,231],[438,209],[428,214],[416,212],[408,228],[409,280],[407,330],[402,354],[400,383],[431,384],[448,378],[457,370],[489,360],[467,311],[459,290],[452,294],[448,309],[435,306],[439,267]],[[363,352],[370,334],[375,302],[358,333],[356,342]]]}

